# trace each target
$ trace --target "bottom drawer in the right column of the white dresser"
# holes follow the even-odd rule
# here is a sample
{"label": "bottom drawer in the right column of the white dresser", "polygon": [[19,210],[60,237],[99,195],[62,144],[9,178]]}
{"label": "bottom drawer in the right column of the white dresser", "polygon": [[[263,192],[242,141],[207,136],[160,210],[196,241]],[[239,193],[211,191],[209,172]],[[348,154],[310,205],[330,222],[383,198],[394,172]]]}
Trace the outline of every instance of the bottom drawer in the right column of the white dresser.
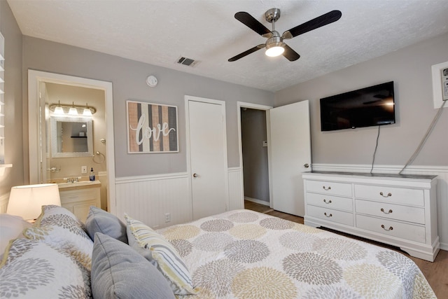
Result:
{"label": "bottom drawer in the right column of the white dresser", "polygon": [[369,230],[371,232],[378,232],[382,235],[398,237],[400,239],[407,239],[420,243],[426,242],[424,226],[356,215],[356,227]]}

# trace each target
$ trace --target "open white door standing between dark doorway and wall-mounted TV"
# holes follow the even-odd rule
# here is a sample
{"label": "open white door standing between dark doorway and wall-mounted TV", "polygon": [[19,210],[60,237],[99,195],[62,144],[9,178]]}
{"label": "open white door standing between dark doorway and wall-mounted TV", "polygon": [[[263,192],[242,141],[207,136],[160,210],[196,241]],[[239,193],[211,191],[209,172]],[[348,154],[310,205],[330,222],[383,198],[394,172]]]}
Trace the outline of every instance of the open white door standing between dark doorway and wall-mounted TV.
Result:
{"label": "open white door standing between dark doorway and wall-mounted TV", "polygon": [[311,170],[309,101],[269,110],[272,208],[304,216],[302,172]]}

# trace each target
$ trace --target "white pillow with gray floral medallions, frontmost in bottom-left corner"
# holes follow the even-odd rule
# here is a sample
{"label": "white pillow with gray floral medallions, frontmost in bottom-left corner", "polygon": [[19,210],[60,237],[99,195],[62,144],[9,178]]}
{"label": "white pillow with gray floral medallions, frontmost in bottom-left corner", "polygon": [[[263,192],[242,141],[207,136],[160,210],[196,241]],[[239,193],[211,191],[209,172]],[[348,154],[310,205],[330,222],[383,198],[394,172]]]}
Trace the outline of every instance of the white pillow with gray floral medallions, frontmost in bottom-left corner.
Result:
{"label": "white pillow with gray floral medallions, frontmost in bottom-left corner", "polygon": [[49,244],[15,239],[0,264],[0,298],[91,299],[90,271]]}

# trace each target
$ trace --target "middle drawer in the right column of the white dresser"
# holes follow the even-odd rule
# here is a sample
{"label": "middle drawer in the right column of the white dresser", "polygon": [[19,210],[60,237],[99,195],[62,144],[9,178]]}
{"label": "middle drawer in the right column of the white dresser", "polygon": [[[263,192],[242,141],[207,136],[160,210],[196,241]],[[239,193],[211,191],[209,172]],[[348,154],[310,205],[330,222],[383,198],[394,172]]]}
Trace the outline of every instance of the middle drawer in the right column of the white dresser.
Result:
{"label": "middle drawer in the right column of the white dresser", "polygon": [[367,200],[356,200],[355,206],[356,213],[425,224],[425,209],[423,208]]}

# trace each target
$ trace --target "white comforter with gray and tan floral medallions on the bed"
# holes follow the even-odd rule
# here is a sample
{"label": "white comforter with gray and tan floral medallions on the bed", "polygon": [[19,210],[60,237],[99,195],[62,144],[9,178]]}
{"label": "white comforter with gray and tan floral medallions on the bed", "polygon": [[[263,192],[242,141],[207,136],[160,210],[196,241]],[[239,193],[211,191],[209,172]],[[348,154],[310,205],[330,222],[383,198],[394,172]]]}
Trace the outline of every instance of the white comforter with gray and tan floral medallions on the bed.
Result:
{"label": "white comforter with gray and tan floral medallions on the bed", "polygon": [[401,253],[255,211],[158,232],[200,289],[186,298],[435,298]]}

